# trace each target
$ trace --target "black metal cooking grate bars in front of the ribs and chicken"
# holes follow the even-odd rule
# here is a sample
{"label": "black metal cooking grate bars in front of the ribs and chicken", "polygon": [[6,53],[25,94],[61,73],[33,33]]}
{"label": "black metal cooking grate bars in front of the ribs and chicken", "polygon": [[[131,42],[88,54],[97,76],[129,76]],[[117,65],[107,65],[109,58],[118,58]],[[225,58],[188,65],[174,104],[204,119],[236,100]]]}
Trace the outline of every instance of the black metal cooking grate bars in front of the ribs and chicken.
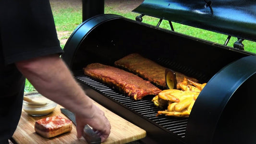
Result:
{"label": "black metal cooking grate bars in front of the ribs and chicken", "polygon": [[147,118],[148,120],[154,121],[156,124],[166,128],[167,130],[176,133],[181,137],[185,137],[185,130],[187,126],[188,118],[171,118],[166,116],[158,116],[156,114],[158,110],[151,99],[146,99],[145,97],[142,100],[134,101],[128,96],[123,95],[122,93],[116,91],[115,89],[110,88],[106,84],[102,84],[88,76],[85,75],[78,75],[76,78],[86,84],[87,86],[93,88],[94,90],[98,91],[101,95],[107,96],[112,98],[122,105],[134,110],[137,114],[142,115],[143,117]]}

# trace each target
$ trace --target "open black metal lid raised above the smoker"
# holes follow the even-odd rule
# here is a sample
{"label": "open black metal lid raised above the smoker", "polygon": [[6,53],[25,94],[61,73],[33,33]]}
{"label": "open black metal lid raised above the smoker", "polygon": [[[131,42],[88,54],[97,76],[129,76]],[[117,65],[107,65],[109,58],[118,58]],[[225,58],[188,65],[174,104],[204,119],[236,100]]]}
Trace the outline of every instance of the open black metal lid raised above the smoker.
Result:
{"label": "open black metal lid raised above the smoker", "polygon": [[133,12],[256,41],[256,0],[144,0]]}

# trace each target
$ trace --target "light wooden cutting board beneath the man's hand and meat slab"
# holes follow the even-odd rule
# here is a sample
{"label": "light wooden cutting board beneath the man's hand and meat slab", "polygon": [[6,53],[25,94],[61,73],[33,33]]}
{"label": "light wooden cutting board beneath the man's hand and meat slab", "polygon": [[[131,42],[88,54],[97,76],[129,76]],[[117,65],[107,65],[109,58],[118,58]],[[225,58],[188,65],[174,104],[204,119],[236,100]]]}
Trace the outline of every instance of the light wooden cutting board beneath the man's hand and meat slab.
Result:
{"label": "light wooden cutting board beneath the man's hand and meat slab", "polygon": [[[145,130],[122,119],[107,108],[99,105],[97,102],[94,101],[94,103],[105,112],[105,115],[111,124],[110,136],[103,144],[125,144],[146,137]],[[71,132],[63,133],[49,139],[44,138],[35,132],[34,125],[36,120],[57,115],[67,118],[61,113],[60,108],[63,107],[58,105],[51,114],[42,117],[30,116],[22,110],[21,119],[13,134],[13,139],[18,144],[87,144],[84,138],[76,138],[76,127],[74,124]]]}

